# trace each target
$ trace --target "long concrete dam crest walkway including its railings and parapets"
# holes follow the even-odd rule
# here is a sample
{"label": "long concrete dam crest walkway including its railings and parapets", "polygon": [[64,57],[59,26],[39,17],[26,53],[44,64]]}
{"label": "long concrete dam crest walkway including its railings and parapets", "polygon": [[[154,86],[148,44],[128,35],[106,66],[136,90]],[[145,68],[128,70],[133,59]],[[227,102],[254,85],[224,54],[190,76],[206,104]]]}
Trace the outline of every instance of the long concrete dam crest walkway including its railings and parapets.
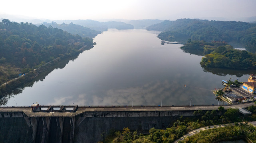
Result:
{"label": "long concrete dam crest walkway including its railings and parapets", "polygon": [[[254,102],[232,105],[219,105],[228,108],[247,108]],[[75,117],[92,112],[171,112],[194,110],[218,110],[217,105],[196,106],[77,106],[77,105],[40,105],[39,111],[33,111],[31,106],[1,106],[0,112],[23,112],[27,117]],[[57,108],[57,109],[56,109]],[[65,110],[66,108],[66,110]],[[42,110],[41,110],[42,109]],[[49,110],[50,109],[50,110]],[[140,115],[138,115],[140,116]],[[159,116],[161,116],[159,114]],[[101,116],[99,116],[101,117]],[[104,116],[105,117],[105,116]]]}

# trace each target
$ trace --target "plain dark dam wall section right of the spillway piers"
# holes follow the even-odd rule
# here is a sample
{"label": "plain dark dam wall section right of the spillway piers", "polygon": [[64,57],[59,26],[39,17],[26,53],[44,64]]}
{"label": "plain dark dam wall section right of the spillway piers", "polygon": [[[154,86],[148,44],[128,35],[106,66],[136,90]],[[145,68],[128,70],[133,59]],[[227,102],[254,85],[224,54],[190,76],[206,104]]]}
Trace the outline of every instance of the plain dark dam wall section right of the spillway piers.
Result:
{"label": "plain dark dam wall section right of the spillway piers", "polygon": [[[194,116],[194,111],[151,111],[151,112],[95,112],[76,117],[74,143],[102,141],[111,131],[148,132],[151,128],[165,129],[181,115]],[[94,117],[93,117],[94,116]]]}

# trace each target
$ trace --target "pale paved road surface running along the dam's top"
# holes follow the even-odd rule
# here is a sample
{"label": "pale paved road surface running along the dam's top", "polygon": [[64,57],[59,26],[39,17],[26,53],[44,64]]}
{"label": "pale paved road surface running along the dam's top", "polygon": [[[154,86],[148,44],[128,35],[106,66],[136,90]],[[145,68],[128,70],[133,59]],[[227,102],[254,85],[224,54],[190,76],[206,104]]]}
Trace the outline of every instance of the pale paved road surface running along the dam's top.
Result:
{"label": "pale paved road surface running along the dam's top", "polygon": [[[255,105],[254,102],[247,102],[236,105],[223,106],[225,109],[228,108],[246,108]],[[49,105],[50,106],[50,105]],[[84,112],[131,112],[131,111],[189,111],[189,110],[218,110],[219,106],[120,106],[120,107],[106,107],[106,106],[78,106],[76,112],[32,112],[30,107],[0,107],[0,112],[24,112],[26,116],[68,116],[73,117]]]}

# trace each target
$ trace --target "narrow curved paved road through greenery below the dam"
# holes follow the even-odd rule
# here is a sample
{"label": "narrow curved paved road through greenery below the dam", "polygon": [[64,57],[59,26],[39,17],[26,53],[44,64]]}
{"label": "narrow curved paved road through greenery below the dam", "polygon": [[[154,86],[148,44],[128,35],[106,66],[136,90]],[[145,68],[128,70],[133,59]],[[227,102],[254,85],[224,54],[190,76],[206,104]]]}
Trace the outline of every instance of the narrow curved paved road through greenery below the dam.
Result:
{"label": "narrow curved paved road through greenery below the dam", "polygon": [[[245,123],[245,122],[242,122],[242,123]],[[256,121],[249,122],[249,123],[256,126]],[[194,130],[190,131],[189,133],[187,133],[186,135],[183,135],[181,138],[177,139],[173,143],[178,143],[179,141],[183,141],[186,137],[195,135],[196,133],[199,133],[200,131],[204,131],[206,129],[212,129],[212,128],[225,127],[226,125],[234,125],[234,123],[222,124],[222,125],[213,125],[213,126],[210,126],[210,128],[209,128],[209,126],[205,126],[205,127],[202,127],[202,128],[194,129]]]}

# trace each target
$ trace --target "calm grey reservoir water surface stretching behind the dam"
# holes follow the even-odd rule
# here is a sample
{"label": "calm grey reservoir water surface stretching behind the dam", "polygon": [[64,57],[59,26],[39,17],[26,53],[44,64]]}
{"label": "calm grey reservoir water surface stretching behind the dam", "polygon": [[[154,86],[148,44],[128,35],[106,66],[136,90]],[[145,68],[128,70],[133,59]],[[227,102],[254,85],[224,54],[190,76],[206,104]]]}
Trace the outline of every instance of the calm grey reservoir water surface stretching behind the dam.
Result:
{"label": "calm grey reservoir water surface stretching behind the dam", "polygon": [[223,88],[222,80],[247,81],[246,71],[203,69],[202,56],[181,50],[182,44],[161,45],[159,33],[104,31],[94,48],[13,95],[7,105],[218,104],[212,90]]}

